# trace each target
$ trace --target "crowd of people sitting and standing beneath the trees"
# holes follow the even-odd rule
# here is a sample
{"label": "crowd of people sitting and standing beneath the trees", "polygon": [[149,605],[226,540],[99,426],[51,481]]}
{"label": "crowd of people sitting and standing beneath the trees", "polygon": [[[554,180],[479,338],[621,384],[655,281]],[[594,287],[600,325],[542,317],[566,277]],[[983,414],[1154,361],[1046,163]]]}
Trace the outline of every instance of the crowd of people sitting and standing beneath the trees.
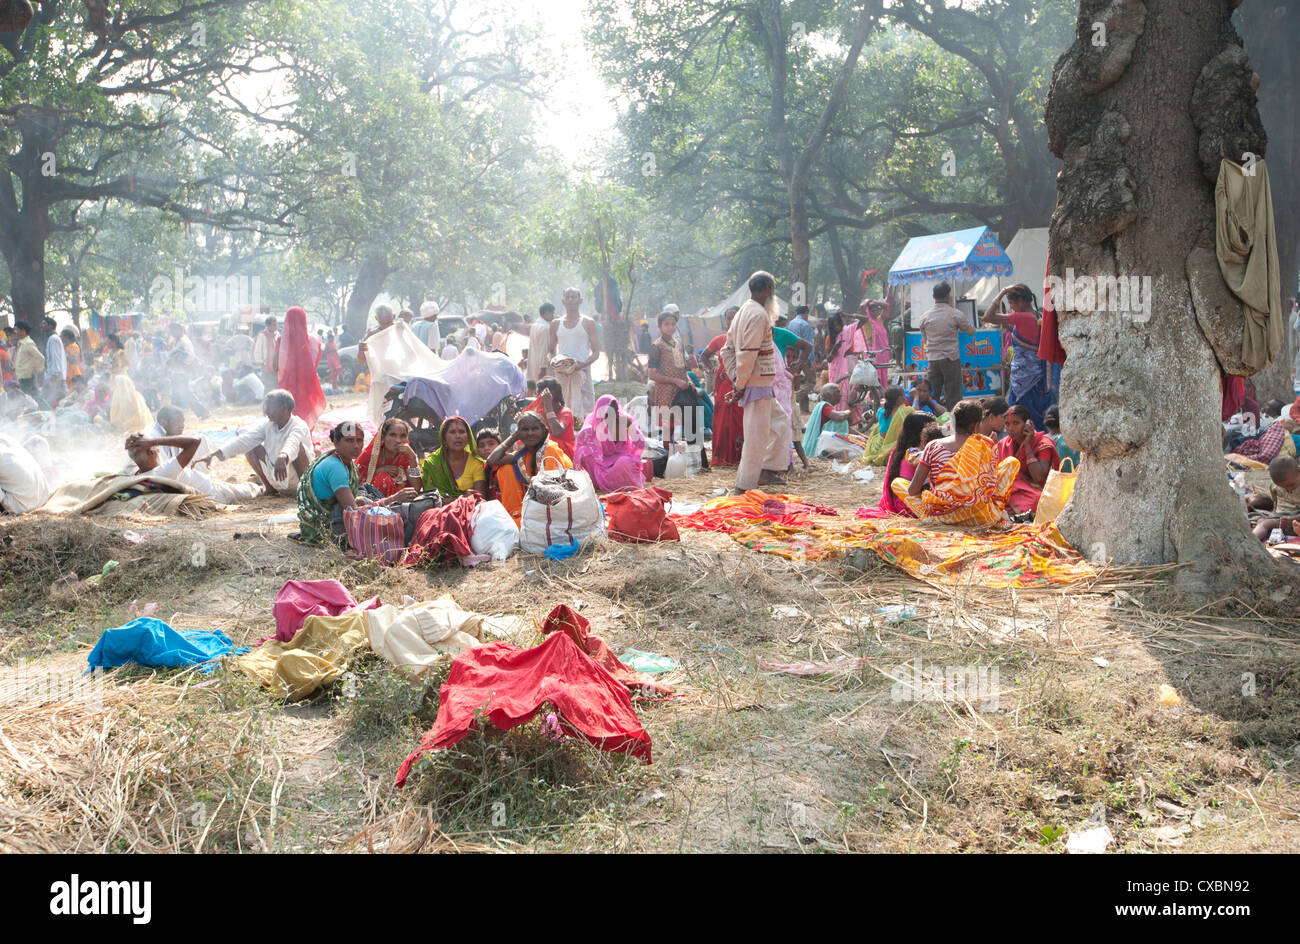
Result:
{"label": "crowd of people sitting and standing beneath the trees", "polygon": [[[53,415],[107,424],[126,437],[126,472],[177,481],[221,503],[292,497],[299,538],[308,542],[346,540],[348,508],[386,506],[410,518],[421,503],[467,494],[500,501],[517,521],[532,479],[546,468],[580,468],[603,494],[671,476],[675,456],[680,472],[689,456],[703,473],[734,468],[740,494],[785,486],[792,472],[831,451],[885,469],[879,503],[861,516],[966,527],[1031,520],[1053,472],[1078,471],[1082,456],[1061,430],[1058,374],[1037,354],[1043,315],[1027,286],[1008,286],[979,316],[1005,332],[1009,351],[1008,395],[980,399],[966,395],[959,346],[974,325],[953,306],[946,283],[935,286],[933,306],[914,320],[928,358],[923,373],[902,356],[901,320],[881,299],[863,300],[853,315],[801,306],[785,316],[770,273],[755,273],[748,289],[711,339],[684,332],[673,304],[654,319],[654,330],[647,321],[637,337],[629,333],[625,354],[645,394],[625,400],[595,394],[602,329],[581,312],[578,289],[563,291],[559,309],[545,303],[508,328],[458,320],[446,337],[434,302],[419,316],[377,306],[374,326],[356,342],[363,369],[368,341],[398,322],[443,359],[467,348],[506,355],[512,332],[526,339],[517,356],[528,385],[523,408],[500,428],[443,417],[437,447],[425,455],[412,445],[412,424],[395,416],[369,441],[358,423],[338,424],[317,455],[312,429],[326,408],[321,374],[335,378],[341,345],[354,338],[311,333],[300,307],[282,321],[266,317],[252,334],[202,347],[183,324],[124,338],[57,330],[49,319],[34,332],[20,321],[0,339],[0,411],[6,420]],[[186,433],[186,415],[203,419],[221,402],[260,402],[263,420],[211,449]],[[1300,410],[1277,400],[1261,408],[1249,382],[1236,381],[1225,385],[1223,411],[1230,459],[1266,467],[1273,482],[1266,494],[1245,494],[1235,480],[1256,533],[1271,541],[1295,536]],[[251,481],[211,473],[213,460],[240,455]],[[13,505],[5,507],[30,510],[30,490]]]}

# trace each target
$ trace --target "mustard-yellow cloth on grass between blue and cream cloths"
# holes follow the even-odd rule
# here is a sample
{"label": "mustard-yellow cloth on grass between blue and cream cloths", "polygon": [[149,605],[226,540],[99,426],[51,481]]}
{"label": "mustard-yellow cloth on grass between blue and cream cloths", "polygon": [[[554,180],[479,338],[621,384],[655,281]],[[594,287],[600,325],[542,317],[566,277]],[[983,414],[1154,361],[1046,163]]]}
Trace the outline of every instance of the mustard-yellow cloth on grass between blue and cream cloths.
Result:
{"label": "mustard-yellow cloth on grass between blue and cream cloths", "polygon": [[289,642],[266,640],[234,664],[285,701],[298,701],[338,679],[365,640],[364,612],[308,616]]}

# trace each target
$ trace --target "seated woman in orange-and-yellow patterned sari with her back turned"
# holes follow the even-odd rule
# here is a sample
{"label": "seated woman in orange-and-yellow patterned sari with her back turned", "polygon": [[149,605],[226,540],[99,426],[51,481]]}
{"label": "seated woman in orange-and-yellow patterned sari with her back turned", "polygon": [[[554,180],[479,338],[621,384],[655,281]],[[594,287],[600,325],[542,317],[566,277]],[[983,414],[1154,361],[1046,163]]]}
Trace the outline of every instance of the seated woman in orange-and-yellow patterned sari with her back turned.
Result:
{"label": "seated woman in orange-and-yellow patterned sari with her back turned", "polygon": [[962,400],[952,412],[956,432],[922,449],[911,480],[900,476],[889,489],[911,514],[927,521],[1004,524],[1020,464],[1015,459],[997,462],[993,441],[975,432],[984,417],[979,403]]}

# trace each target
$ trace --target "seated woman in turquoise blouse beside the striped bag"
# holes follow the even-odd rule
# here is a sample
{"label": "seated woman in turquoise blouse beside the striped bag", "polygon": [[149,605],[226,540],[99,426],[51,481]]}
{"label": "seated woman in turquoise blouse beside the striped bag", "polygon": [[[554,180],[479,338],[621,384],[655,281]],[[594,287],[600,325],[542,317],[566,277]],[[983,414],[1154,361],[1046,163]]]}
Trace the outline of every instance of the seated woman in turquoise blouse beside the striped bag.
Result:
{"label": "seated woman in turquoise blouse beside the striped bag", "polygon": [[365,443],[365,433],[355,423],[339,423],[329,430],[334,449],[316,459],[298,480],[299,533],[291,536],[304,544],[333,541],[347,547],[343,511],[369,505],[410,502],[415,489],[402,489],[384,498],[373,485],[361,485],[356,458]]}

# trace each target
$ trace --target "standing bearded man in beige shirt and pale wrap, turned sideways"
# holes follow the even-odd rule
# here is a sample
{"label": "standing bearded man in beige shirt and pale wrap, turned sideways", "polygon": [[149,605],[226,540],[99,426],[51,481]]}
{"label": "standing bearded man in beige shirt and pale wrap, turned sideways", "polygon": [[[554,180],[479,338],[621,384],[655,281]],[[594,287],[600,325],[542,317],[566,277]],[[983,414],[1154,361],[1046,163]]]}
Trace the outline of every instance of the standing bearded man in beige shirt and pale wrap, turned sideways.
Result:
{"label": "standing bearded man in beige shirt and pale wrap, turned sideways", "polygon": [[776,280],[755,272],[750,298],[727,329],[722,358],[734,385],[727,399],[744,410],[745,442],[736,467],[736,494],[759,485],[784,485],[790,467],[790,415],[774,390],[776,350],[772,342],[772,296]]}

